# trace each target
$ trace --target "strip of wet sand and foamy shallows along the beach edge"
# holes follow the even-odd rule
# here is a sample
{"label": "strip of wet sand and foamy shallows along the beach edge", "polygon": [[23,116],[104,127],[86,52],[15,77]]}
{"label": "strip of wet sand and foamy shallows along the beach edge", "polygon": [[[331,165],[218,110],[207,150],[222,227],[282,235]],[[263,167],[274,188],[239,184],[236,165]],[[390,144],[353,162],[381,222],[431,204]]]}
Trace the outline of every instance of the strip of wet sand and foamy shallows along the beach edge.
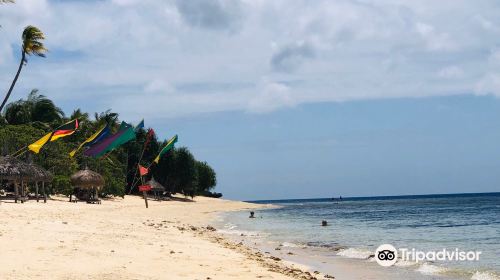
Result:
{"label": "strip of wet sand and foamy shallows along the beach edge", "polygon": [[[265,230],[266,227],[255,228],[251,223],[246,227],[246,222],[242,222],[246,218],[245,215],[235,214],[232,217],[231,214],[221,217],[219,227],[227,238],[243,242],[267,254],[271,252],[284,261],[304,265],[310,271],[318,270],[322,274],[332,274],[336,279],[498,279],[492,270],[465,271],[432,262],[422,264],[402,262],[384,268],[376,264],[372,257],[373,253],[365,249],[351,248],[342,244],[333,248],[309,246],[303,240],[289,239],[291,236],[285,232],[277,237],[271,234],[272,230]],[[270,222],[279,223],[279,220],[271,219]]]}

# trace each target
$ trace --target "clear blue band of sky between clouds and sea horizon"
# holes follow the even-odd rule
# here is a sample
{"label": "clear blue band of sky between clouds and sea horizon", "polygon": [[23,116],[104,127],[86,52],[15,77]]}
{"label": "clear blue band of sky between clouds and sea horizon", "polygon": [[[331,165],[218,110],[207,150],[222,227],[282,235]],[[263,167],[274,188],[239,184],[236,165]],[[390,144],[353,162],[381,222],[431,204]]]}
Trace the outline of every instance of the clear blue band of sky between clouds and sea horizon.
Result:
{"label": "clear blue band of sky between clouds and sea horizon", "polygon": [[313,198],[499,191],[499,118],[498,99],[459,95],[219,113],[171,125],[210,159],[226,196]]}

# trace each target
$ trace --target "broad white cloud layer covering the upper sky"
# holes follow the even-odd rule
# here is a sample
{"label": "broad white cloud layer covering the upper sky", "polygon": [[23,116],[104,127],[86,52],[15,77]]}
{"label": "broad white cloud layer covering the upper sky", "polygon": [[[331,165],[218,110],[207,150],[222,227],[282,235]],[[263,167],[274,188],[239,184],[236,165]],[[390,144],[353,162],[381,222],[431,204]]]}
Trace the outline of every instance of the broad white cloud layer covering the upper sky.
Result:
{"label": "broad white cloud layer covering the upper sky", "polygon": [[[497,93],[500,3],[474,1],[47,1],[0,6],[0,88],[22,29],[47,36],[13,99],[151,118],[303,103]],[[445,14],[446,16],[443,16]],[[262,77],[267,77],[262,79]],[[144,108],[144,107],[143,107]]]}

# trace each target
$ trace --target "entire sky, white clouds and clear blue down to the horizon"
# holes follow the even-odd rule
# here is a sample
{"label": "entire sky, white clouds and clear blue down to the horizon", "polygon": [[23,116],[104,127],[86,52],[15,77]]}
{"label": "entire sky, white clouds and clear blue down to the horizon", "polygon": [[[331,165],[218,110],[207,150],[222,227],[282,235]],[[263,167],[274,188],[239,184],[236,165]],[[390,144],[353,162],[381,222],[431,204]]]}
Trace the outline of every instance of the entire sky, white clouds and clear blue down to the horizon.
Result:
{"label": "entire sky, white clouds and clear blue down to the horizon", "polygon": [[17,0],[33,89],[179,134],[234,199],[500,191],[500,2]]}

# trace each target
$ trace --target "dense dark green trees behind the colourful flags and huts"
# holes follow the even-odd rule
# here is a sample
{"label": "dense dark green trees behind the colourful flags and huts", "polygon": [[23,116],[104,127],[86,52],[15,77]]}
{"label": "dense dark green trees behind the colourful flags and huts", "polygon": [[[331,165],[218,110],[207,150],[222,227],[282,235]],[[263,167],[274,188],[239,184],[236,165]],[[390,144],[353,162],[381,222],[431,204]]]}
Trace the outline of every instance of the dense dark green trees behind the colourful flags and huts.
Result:
{"label": "dense dark green trees behind the colourful flags and huts", "polygon": [[[135,140],[100,159],[86,157],[82,152],[77,153],[74,158],[69,156],[71,150],[105,124],[109,124],[113,132],[116,132],[120,124],[118,117],[117,113],[108,110],[95,113],[91,118],[80,109],[66,117],[54,102],[33,90],[27,99],[8,104],[0,114],[2,154],[14,154],[64,122],[77,118],[80,127],[73,135],[47,143],[39,154],[28,151],[19,158],[33,160],[54,174],[52,193],[69,194],[72,190],[69,176],[85,167],[104,176],[106,185],[101,195],[123,196],[134,193],[142,181],[137,171],[141,155],[140,164],[149,167],[161,147],[166,144],[166,141],[158,141],[156,135],[146,143],[147,131],[140,129]],[[169,193],[190,196],[210,194],[217,183],[215,171],[206,162],[197,161],[186,147],[174,148],[163,155],[158,164],[152,164],[149,174],[143,180],[151,178],[165,186]]]}

